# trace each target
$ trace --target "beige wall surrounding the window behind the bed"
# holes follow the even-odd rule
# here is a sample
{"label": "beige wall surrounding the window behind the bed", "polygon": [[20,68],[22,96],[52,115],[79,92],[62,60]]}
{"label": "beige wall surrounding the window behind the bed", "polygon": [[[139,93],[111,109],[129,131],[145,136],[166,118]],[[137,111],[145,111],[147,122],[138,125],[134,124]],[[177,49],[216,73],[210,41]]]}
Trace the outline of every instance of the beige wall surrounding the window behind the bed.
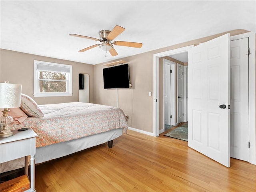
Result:
{"label": "beige wall surrounding the window behind the bed", "polygon": [[[90,102],[94,102],[94,66],[79,62],[49,58],[44,56],[26,54],[16,51],[0,49],[0,82],[22,84],[22,93],[32,97],[38,104],[53,104],[79,101],[79,73],[90,76]],[[34,97],[34,60],[72,65],[72,96],[64,97]]]}

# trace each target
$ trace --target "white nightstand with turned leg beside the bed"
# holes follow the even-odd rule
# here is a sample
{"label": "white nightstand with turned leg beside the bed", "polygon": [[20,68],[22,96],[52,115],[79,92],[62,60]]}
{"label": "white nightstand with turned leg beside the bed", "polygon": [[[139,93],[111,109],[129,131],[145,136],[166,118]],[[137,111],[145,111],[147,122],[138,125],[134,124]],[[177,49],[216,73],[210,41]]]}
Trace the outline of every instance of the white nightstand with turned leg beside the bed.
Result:
{"label": "white nightstand with turned leg beside the bed", "polygon": [[13,136],[0,138],[0,163],[25,157],[25,174],[28,176],[28,156],[30,155],[30,191],[36,191],[35,154],[38,135],[32,129],[12,132]]}

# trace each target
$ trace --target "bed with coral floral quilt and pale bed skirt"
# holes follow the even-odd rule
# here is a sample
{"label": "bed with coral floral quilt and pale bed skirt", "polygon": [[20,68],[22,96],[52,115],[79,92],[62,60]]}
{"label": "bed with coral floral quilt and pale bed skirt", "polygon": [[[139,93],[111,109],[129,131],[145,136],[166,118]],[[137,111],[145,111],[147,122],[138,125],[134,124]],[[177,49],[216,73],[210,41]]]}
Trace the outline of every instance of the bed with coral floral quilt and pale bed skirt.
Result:
{"label": "bed with coral floral quilt and pale bed skirt", "polygon": [[[24,102],[21,105],[24,104],[27,105]],[[38,134],[36,164],[106,142],[112,148],[113,140],[127,133],[128,124],[124,112],[112,106],[70,102],[47,105],[34,103],[32,107],[21,107],[30,116],[22,123],[12,124],[11,129],[31,128]],[[6,162],[1,164],[0,172],[22,166],[22,159]]]}

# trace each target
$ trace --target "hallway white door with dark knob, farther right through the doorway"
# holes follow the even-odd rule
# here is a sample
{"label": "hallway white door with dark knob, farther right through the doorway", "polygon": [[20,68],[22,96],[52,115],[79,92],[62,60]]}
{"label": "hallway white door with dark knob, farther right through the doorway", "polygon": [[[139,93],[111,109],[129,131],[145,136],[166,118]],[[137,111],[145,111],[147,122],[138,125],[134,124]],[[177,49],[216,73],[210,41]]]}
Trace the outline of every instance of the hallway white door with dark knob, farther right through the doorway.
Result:
{"label": "hallway white door with dark knob, farther right through the doorway", "polygon": [[177,64],[177,117],[178,124],[184,120],[184,66]]}

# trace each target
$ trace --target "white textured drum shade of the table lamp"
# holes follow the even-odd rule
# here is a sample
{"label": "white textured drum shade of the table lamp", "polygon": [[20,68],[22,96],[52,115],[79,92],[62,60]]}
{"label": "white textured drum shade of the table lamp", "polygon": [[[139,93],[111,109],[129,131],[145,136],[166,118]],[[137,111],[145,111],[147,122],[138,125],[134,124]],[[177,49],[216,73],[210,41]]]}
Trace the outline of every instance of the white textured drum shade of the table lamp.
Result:
{"label": "white textured drum shade of the table lamp", "polygon": [[0,108],[20,107],[20,84],[0,83]]}

